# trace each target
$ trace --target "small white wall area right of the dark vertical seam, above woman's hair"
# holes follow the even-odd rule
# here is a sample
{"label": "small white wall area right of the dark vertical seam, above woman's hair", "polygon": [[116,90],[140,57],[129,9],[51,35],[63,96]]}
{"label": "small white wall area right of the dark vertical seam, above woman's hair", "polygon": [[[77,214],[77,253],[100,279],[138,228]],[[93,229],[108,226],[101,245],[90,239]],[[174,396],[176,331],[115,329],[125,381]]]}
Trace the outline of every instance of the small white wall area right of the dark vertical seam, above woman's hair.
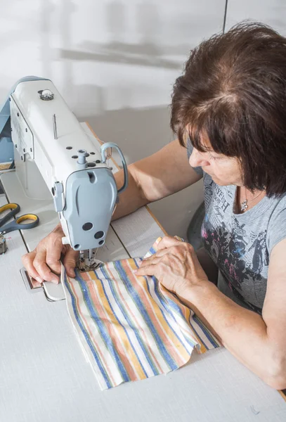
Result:
{"label": "small white wall area right of the dark vertical seam, above woman's hair", "polygon": [[286,35],[285,0],[228,0],[226,30],[240,20],[257,20]]}

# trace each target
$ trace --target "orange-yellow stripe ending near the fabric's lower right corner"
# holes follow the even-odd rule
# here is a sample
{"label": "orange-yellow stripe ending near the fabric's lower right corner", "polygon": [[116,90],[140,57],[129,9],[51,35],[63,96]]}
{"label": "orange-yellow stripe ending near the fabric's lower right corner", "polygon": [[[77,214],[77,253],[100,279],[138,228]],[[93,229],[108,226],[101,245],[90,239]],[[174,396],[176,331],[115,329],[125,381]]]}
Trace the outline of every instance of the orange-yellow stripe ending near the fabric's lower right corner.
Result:
{"label": "orange-yellow stripe ending near the fabric's lower right corner", "polygon": [[[126,264],[126,269],[124,268],[126,271],[126,275],[133,284],[134,288],[136,288],[136,291],[139,297],[141,298],[145,309],[148,309],[148,314],[152,319],[152,323],[155,326],[157,333],[162,338],[162,341],[164,341],[164,345],[167,348],[169,354],[179,366],[186,364],[186,360],[190,359],[190,354],[186,352],[185,348],[181,345],[181,341],[178,340],[178,338],[176,338],[176,335],[174,335],[173,331],[171,331],[171,328],[169,328],[167,322],[162,316],[160,308],[150,295],[148,295],[150,302],[148,301],[147,281],[144,277],[136,277],[135,274],[131,271],[131,269],[137,269],[134,260],[126,260]],[[143,288],[143,285],[145,285],[145,288]]]}

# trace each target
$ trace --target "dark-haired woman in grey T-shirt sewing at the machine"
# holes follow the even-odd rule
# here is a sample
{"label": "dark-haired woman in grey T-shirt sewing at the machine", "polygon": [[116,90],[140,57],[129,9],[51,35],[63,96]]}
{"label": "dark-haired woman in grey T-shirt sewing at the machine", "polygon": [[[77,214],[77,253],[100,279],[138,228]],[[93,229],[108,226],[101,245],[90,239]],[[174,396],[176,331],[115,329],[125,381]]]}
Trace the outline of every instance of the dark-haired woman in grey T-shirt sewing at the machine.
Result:
{"label": "dark-haired woman in grey T-shirt sewing at the machine", "polygon": [[[243,23],[191,51],[176,80],[178,140],[129,165],[115,218],[204,178],[203,250],[166,236],[137,270],[195,309],[221,343],[274,388],[286,388],[286,39]],[[188,160],[185,147],[188,147]],[[116,174],[122,184],[123,174]],[[23,257],[58,281],[58,226]],[[53,271],[53,272],[52,272]]]}

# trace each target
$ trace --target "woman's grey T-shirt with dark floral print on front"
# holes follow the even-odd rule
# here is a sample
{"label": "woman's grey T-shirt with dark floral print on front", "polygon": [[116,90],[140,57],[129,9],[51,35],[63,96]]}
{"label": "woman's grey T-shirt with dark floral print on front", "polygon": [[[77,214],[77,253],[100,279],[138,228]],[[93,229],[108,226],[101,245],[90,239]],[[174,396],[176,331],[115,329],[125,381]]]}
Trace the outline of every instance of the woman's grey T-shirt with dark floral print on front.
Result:
{"label": "woman's grey T-shirt with dark floral print on front", "polygon": [[[188,140],[188,158],[192,151]],[[286,193],[280,198],[265,196],[245,213],[235,214],[236,186],[219,186],[201,167],[195,171],[204,178],[202,242],[219,267],[219,289],[261,313],[271,250],[286,238]]]}

